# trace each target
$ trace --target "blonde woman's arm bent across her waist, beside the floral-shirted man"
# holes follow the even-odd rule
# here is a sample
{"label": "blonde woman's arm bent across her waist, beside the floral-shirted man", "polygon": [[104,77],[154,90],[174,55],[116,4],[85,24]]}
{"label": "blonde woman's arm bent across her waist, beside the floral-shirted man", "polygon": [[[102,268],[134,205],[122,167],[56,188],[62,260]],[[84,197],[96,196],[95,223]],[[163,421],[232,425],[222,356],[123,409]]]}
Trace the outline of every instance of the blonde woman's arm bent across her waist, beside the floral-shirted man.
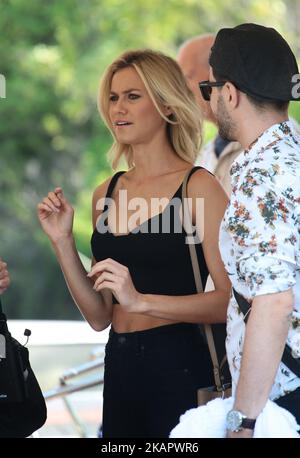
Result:
{"label": "blonde woman's arm bent across her waist, beside the floral-shirted man", "polygon": [[[218,237],[228,199],[217,180],[202,170],[192,175],[188,195],[193,199],[193,222],[196,220],[195,198],[204,198],[202,247],[215,291],[188,296],[141,294],[136,291],[128,268],[113,259],[97,263],[90,275],[99,276],[95,282],[97,291],[109,288],[128,312],[191,323],[225,322],[231,284],[221,260]],[[201,228],[197,229],[200,233]]]}

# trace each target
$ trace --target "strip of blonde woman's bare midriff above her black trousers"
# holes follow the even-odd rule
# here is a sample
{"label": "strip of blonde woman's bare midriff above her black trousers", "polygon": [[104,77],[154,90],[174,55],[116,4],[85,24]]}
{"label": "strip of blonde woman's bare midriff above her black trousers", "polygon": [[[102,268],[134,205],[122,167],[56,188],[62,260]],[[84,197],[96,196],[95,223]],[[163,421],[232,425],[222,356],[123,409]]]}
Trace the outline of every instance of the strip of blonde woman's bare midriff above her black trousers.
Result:
{"label": "strip of blonde woman's bare midriff above her black trousers", "polygon": [[164,320],[162,318],[139,315],[138,313],[128,313],[122,310],[119,304],[115,304],[113,307],[112,326],[118,333],[145,331],[146,329],[179,323],[179,321]]}

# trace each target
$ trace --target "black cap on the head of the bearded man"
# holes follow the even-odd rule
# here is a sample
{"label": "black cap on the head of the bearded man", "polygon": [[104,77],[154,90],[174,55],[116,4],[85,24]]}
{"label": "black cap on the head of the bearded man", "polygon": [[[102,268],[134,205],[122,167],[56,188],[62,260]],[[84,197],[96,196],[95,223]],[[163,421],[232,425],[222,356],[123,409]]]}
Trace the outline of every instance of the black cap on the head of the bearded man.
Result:
{"label": "black cap on the head of the bearded man", "polygon": [[246,94],[266,100],[299,100],[292,93],[292,77],[299,73],[296,58],[271,27],[249,23],[219,30],[209,64]]}

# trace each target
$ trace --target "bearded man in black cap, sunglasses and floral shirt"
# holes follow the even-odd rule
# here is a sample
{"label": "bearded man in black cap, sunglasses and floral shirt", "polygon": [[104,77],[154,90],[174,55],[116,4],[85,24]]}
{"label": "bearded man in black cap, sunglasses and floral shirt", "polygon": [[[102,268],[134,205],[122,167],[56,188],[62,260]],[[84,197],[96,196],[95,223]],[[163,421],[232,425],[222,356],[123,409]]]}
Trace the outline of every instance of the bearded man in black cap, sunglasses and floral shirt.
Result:
{"label": "bearded man in black cap, sunglasses and floral shirt", "polygon": [[242,24],[219,31],[209,81],[199,84],[220,135],[245,148],[220,230],[238,302],[228,309],[228,437],[252,437],[268,398],[300,424],[300,137],[288,119],[298,73],[276,30]]}

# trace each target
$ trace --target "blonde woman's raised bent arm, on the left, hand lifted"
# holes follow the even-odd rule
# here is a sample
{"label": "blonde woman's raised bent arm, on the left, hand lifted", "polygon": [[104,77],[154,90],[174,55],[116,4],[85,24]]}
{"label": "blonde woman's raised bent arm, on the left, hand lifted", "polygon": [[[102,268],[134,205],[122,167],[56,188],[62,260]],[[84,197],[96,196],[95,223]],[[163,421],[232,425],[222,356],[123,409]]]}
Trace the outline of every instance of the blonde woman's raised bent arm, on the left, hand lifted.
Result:
{"label": "blonde woman's raised bent arm, on the left, hand lifted", "polygon": [[[107,182],[97,188],[93,196],[94,227],[95,203],[106,188]],[[50,192],[48,197],[38,204],[38,216],[44,232],[52,243],[74,302],[90,326],[96,331],[102,331],[111,323],[111,301],[107,294],[94,291],[94,282],[87,277],[72,232],[74,210],[61,188]]]}

